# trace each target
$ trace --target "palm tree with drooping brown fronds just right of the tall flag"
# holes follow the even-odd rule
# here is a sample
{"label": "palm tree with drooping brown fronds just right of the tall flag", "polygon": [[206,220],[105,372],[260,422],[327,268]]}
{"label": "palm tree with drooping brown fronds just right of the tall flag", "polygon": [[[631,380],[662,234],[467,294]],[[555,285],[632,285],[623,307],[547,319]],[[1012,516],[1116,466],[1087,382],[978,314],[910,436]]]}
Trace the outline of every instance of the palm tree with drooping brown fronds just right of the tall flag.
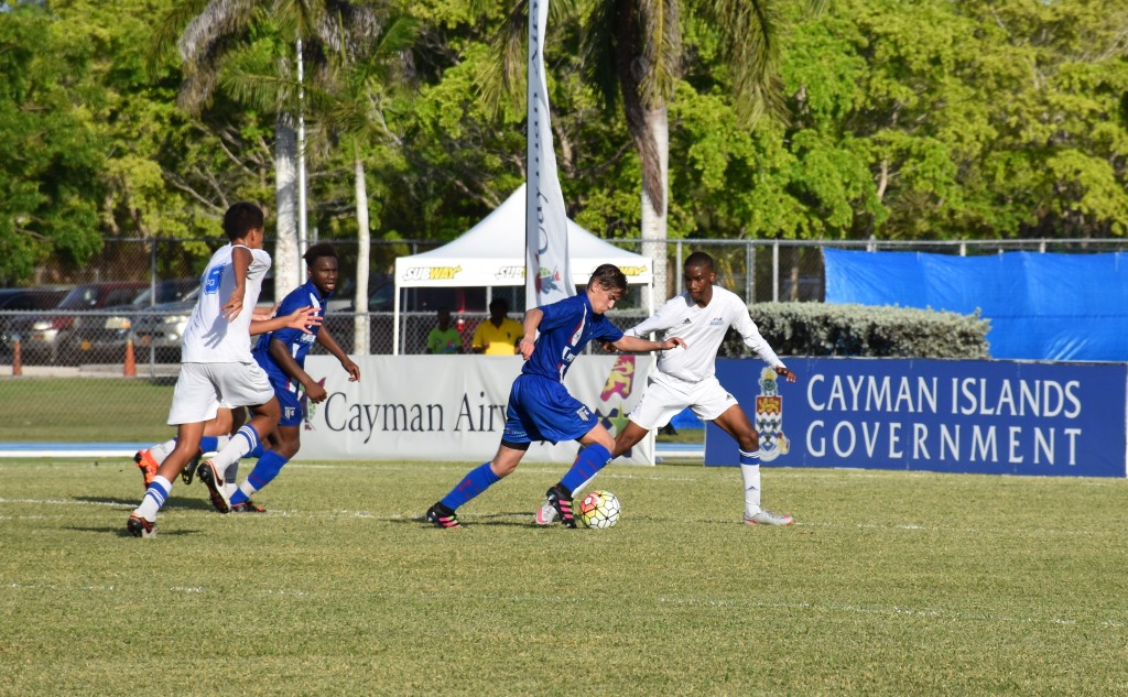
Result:
{"label": "palm tree with drooping brown fronds just right of the tall flag", "polygon": [[[654,292],[667,295],[666,245],[669,183],[667,104],[684,71],[681,32],[698,20],[717,33],[729,68],[732,100],[746,122],[781,115],[775,80],[776,34],[783,0],[554,0],[561,14],[578,16],[584,29],[584,63],[607,105],[622,103],[627,130],[642,161],[643,254],[654,262]],[[810,2],[810,0],[809,0]],[[523,0],[522,0],[523,6]],[[552,7],[552,6],[550,6]],[[519,7],[500,34],[510,85],[523,68]],[[549,18],[552,32],[553,17]],[[490,78],[486,77],[488,80]],[[493,95],[494,86],[484,86]]]}

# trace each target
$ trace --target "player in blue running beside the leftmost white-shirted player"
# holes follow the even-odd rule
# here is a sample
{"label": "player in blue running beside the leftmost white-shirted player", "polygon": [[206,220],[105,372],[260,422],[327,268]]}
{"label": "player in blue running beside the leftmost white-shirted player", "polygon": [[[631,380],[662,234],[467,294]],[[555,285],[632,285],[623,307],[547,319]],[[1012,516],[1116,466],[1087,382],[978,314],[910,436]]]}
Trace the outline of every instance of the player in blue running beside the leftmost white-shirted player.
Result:
{"label": "player in blue running beside the leftmost white-shirted player", "polygon": [[[284,316],[296,308],[312,306],[320,308],[320,316],[325,317],[325,303],[337,285],[337,253],[333,245],[323,242],[310,247],[306,252],[305,259],[309,280],[282,300],[276,310],[279,316]],[[327,328],[314,326],[308,329],[308,334],[290,328],[263,334],[252,352],[255,362],[270,378],[274,396],[282,407],[282,418],[271,436],[271,449],[258,458],[254,469],[231,495],[232,513],[263,512],[263,509],[250,500],[250,495],[270,484],[290,458],[301,449],[302,409],[299,390],[303,389],[314,404],[324,402],[327,396],[325,388],[306,372],[306,354],[309,353],[314,342],[316,341],[341,361],[341,367],[349,373],[350,382],[360,380],[360,368],[345,354]]]}

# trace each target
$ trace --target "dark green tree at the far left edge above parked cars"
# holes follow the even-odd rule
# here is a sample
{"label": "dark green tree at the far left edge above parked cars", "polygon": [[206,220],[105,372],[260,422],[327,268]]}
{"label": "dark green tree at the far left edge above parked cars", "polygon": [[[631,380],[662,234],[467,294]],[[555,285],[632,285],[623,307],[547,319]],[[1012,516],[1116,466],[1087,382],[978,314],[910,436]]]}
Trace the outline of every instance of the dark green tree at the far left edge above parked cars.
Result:
{"label": "dark green tree at the far left edge above parked cars", "polygon": [[103,98],[89,55],[35,6],[0,12],[0,281],[47,256],[80,267],[102,248],[108,143],[88,103]]}

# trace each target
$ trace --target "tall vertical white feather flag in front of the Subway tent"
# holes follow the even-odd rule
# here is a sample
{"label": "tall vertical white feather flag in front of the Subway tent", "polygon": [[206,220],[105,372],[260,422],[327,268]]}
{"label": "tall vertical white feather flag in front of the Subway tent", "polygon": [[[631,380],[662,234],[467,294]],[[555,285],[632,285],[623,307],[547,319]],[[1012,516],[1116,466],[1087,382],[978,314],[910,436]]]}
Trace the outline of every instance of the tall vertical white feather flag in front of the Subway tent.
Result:
{"label": "tall vertical white feather flag in front of the Subway tent", "polygon": [[575,294],[567,256],[567,215],[556,175],[545,79],[545,27],[548,0],[529,3],[529,91],[525,203],[526,309]]}

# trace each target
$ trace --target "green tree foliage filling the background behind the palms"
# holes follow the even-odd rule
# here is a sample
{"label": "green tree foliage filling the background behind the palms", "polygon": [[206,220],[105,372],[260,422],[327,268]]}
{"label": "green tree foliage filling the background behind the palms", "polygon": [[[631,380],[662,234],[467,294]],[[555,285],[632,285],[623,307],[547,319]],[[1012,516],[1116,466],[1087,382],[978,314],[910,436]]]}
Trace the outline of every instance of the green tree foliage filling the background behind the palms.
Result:
{"label": "green tree foliage filling the background behind the palms", "polygon": [[[307,153],[310,224],[356,235],[359,157],[373,238],[452,238],[525,178],[523,105],[493,108],[479,80],[508,6],[353,5],[411,19],[413,81],[385,89],[387,71],[371,71],[377,82],[353,89],[338,78],[361,97],[354,107],[377,98],[380,136],[342,126]],[[690,5],[679,69],[659,76],[670,237],[1128,235],[1128,1],[840,0],[813,16],[783,3],[784,117],[759,121],[733,97],[747,73],[731,26]],[[167,41],[158,18],[193,7],[49,0],[0,11],[0,283],[34,279],[47,255],[78,268],[105,236],[214,235],[231,201],[272,198],[273,114],[222,74],[205,108],[185,111],[177,95],[192,76],[175,55],[149,60]],[[267,44],[281,35],[255,26],[240,60],[268,74],[279,67]],[[590,80],[585,26],[582,14],[554,14],[546,47],[565,202],[597,233],[637,238],[642,162]]]}

